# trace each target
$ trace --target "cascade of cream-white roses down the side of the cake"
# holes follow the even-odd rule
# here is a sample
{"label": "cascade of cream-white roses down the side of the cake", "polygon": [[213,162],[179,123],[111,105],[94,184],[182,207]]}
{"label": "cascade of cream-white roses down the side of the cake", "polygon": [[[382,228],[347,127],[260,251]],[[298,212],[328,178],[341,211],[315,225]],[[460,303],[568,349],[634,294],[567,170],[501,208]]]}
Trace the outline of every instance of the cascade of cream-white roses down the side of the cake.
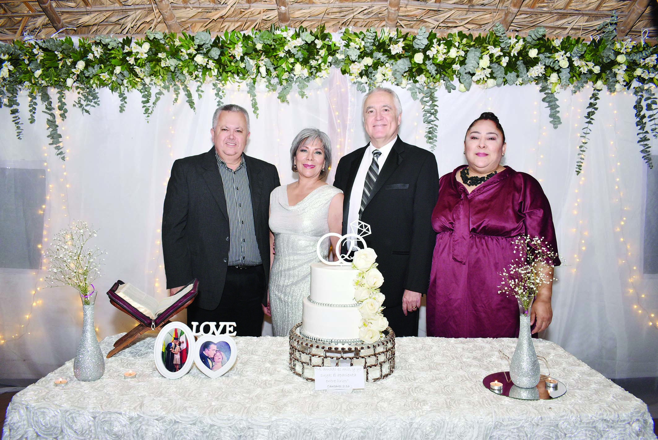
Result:
{"label": "cascade of cream-white roses down the side of the cake", "polygon": [[372,248],[357,250],[354,253],[352,267],[359,270],[354,280],[354,299],[361,303],[361,325],[359,338],[366,343],[374,343],[382,338],[382,331],[388,327],[388,319],[382,314],[384,294],[379,288],[384,283],[382,273],[377,269]]}

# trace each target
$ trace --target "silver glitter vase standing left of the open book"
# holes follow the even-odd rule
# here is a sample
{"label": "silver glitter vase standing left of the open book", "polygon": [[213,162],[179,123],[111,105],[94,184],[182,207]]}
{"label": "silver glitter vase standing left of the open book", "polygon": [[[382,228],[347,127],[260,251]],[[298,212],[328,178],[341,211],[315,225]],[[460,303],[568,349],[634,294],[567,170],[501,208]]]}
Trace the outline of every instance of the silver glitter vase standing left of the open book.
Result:
{"label": "silver glitter vase standing left of the open book", "polygon": [[73,360],[73,373],[79,381],[95,381],[105,373],[105,358],[96,339],[93,304],[82,306],[82,336]]}

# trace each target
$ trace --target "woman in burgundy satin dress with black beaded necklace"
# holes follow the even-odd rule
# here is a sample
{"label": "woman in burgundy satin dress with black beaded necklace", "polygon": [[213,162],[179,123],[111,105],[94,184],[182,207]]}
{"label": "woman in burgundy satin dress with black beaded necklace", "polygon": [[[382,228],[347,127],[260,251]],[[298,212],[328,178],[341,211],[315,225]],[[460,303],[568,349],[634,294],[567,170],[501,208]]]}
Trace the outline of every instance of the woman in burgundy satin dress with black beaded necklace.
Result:
{"label": "woman in burgundy satin dress with black beaded necklace", "polygon": [[[506,147],[497,117],[482,113],[465,136],[468,165],[440,180],[432,213],[437,236],[427,294],[429,336],[518,337],[517,300],[498,293],[499,272],[516,257],[513,239],[520,234],[544,237],[557,253],[542,186],[500,165]],[[552,283],[538,292],[530,312],[533,333],[551,323],[551,292]]]}

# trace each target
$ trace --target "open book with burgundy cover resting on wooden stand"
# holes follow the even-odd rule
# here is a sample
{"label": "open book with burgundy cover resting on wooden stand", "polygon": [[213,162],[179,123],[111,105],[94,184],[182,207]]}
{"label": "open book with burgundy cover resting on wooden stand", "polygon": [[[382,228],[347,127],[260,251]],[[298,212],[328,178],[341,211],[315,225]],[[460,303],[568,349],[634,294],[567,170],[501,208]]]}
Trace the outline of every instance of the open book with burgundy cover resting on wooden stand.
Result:
{"label": "open book with burgundy cover resting on wooden stand", "polygon": [[158,301],[132,284],[119,280],[114,283],[112,289],[108,290],[107,296],[118,309],[134,317],[143,325],[155,329],[168,317],[178,313],[181,306],[196,296],[198,284],[199,282],[194,279],[175,295]]}

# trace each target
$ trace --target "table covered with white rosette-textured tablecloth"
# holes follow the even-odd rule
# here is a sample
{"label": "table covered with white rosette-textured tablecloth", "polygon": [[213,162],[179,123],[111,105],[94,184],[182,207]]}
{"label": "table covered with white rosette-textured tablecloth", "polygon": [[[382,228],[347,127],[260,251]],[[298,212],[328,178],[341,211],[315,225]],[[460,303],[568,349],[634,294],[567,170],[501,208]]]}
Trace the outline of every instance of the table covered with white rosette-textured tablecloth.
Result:
{"label": "table covered with white rosette-textured tablecloth", "polygon": [[[101,341],[107,354],[120,335]],[[567,385],[563,397],[517,400],[482,385],[509,369],[516,339],[395,340],[395,371],[351,393],[315,391],[288,368],[288,338],[236,337],[225,375],[195,366],[180,379],[155,368],[155,337],[105,361],[94,382],[73,361],[16,394],[3,439],[655,439],[646,404],[542,339],[537,354]],[[124,371],[137,371],[124,379]],[[55,387],[59,377],[68,379]]]}

